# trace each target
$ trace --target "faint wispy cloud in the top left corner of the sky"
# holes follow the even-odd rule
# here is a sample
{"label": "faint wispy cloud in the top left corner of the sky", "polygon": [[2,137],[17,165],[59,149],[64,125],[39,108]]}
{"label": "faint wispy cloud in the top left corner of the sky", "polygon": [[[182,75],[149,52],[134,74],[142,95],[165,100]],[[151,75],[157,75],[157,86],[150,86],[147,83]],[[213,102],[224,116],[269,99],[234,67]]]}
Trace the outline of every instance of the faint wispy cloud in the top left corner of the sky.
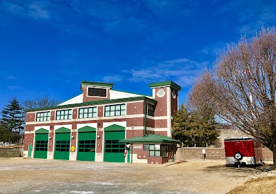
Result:
{"label": "faint wispy cloud in the top left corner of the sky", "polygon": [[50,19],[51,13],[47,8],[45,1],[28,1],[17,4],[8,1],[3,1],[3,7],[11,14],[20,15],[24,17],[31,17],[32,19]]}

